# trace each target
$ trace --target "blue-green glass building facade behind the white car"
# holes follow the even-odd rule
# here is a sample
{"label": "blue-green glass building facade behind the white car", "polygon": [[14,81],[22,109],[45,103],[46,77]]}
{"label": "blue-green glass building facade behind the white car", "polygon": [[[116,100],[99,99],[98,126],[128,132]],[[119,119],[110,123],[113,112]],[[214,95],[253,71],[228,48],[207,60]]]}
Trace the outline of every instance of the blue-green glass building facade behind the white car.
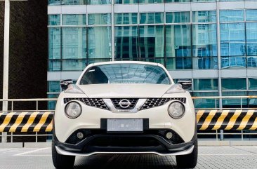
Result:
{"label": "blue-green glass building facade behind the white car", "polygon": [[161,63],[175,81],[192,80],[192,96],[257,95],[257,1],[48,0],[48,97],[60,80],[110,60]]}

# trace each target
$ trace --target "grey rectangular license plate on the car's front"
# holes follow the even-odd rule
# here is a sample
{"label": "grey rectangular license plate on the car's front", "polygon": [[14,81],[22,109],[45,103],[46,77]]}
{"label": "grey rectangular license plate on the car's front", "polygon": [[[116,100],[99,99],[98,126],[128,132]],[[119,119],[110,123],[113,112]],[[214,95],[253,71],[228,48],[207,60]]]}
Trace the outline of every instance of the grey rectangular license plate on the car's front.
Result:
{"label": "grey rectangular license plate on the car's front", "polygon": [[108,132],[142,132],[143,119],[107,119]]}

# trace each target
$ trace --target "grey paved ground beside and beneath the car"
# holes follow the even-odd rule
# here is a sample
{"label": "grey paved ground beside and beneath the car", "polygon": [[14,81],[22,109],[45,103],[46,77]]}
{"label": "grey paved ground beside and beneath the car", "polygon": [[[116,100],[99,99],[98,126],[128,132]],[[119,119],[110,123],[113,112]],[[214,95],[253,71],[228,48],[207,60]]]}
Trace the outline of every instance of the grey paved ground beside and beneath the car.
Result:
{"label": "grey paved ground beside and beneath the car", "polygon": [[[256,168],[257,147],[199,147],[196,168]],[[0,149],[1,169],[54,168],[51,148]],[[157,169],[176,168],[172,156],[155,155],[95,155],[77,157],[75,169]]]}

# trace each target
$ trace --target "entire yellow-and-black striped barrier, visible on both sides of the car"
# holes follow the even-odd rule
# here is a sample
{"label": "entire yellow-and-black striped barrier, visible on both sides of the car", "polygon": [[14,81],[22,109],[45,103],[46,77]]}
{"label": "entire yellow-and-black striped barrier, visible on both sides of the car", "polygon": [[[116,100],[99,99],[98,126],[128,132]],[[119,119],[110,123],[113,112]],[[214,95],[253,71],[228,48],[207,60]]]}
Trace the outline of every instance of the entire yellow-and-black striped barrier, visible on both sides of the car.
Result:
{"label": "entire yellow-and-black striped barrier, visible on both sides of the car", "polygon": [[[198,130],[257,130],[257,110],[198,110]],[[51,132],[54,111],[0,113],[1,132]]]}

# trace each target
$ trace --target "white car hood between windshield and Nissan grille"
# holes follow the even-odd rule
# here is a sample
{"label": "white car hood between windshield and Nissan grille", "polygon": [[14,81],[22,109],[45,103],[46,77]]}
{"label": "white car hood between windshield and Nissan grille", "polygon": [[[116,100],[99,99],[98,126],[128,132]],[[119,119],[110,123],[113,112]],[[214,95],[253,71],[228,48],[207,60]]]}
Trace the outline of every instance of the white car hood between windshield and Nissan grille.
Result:
{"label": "white car hood between windshield and Nissan grille", "polygon": [[161,84],[93,84],[78,85],[90,98],[162,97],[171,85]]}

